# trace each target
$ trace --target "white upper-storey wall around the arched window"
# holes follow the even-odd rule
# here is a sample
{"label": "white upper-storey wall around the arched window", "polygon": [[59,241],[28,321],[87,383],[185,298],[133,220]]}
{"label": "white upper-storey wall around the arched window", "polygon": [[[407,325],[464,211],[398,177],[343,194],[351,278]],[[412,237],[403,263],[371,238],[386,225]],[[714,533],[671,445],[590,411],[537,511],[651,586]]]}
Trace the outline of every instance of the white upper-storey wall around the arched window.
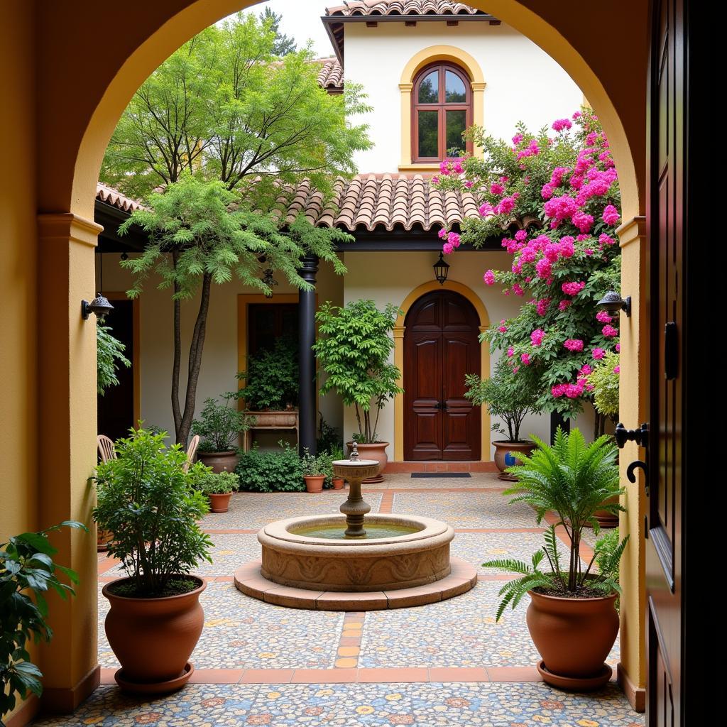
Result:
{"label": "white upper-storey wall around the arched window", "polygon": [[395,172],[401,158],[401,101],[398,84],[411,57],[433,45],[452,45],[478,61],[486,87],[484,126],[510,139],[515,123],[532,130],[570,116],[583,94],[545,51],[509,25],[489,23],[345,23],[345,79],[363,84],[371,113],[357,117],[370,125],[375,146],[358,153],[359,172]]}

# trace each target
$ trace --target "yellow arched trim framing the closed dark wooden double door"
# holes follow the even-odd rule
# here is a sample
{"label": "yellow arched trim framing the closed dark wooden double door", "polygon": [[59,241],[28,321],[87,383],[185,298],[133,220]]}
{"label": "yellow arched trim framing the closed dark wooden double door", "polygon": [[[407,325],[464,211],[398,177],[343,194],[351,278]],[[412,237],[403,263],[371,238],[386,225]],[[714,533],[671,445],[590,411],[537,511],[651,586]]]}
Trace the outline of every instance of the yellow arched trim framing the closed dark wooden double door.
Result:
{"label": "yellow arched trim framing the closed dark wooden double door", "polygon": [[[396,325],[394,326],[394,364],[400,371],[400,377],[398,379],[398,385],[403,387],[403,371],[404,371],[404,321],[406,320],[406,314],[409,313],[409,308],[414,305],[422,295],[426,295],[435,290],[451,290],[454,293],[459,293],[463,298],[472,303],[477,316],[480,319],[480,333],[484,333],[490,327],[490,317],[487,313],[487,308],[482,302],[481,298],[475,294],[473,289],[466,286],[465,284],[458,283],[454,280],[448,280],[445,284],[440,285],[437,281],[429,281],[428,283],[422,283],[412,290],[409,295],[404,298],[401,308],[401,315],[396,318]],[[490,373],[490,349],[487,345],[480,345],[480,375],[489,376]],[[490,412],[486,406],[481,406],[481,454],[480,459],[482,462],[489,462],[490,459]],[[394,397],[394,462],[403,462],[404,459],[404,397],[403,394],[398,394]]]}

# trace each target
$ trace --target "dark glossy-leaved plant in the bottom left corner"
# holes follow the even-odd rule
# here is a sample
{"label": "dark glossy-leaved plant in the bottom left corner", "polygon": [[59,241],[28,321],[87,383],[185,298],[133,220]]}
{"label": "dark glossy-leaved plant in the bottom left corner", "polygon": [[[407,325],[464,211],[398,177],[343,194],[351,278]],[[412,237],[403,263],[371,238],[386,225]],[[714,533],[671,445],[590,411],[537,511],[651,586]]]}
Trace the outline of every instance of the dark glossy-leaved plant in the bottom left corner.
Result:
{"label": "dark glossy-leaved plant in the bottom left corner", "polygon": [[31,662],[25,648],[28,639],[49,641],[53,632],[46,622],[48,603],[44,593],[55,590],[65,600],[75,591],[60,582],[56,571],[73,584],[79,582],[74,571],[54,563],[57,553],[48,534],[62,527],[87,530],[76,521],[65,521],[38,533],[15,535],[0,543],[0,725],[2,718],[15,709],[17,697],[28,692],[41,696],[41,670]]}

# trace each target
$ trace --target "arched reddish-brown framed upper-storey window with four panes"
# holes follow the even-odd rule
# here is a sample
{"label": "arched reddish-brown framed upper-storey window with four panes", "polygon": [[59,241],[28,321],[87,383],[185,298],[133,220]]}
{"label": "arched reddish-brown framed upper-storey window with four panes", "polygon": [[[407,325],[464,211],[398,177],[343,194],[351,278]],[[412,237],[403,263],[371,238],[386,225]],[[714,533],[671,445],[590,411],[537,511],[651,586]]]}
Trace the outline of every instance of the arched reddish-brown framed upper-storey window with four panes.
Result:
{"label": "arched reddish-brown framed upper-storey window with four panes", "polygon": [[412,92],[411,161],[442,161],[471,150],[462,140],[472,124],[472,90],[462,68],[428,65],[417,73]]}

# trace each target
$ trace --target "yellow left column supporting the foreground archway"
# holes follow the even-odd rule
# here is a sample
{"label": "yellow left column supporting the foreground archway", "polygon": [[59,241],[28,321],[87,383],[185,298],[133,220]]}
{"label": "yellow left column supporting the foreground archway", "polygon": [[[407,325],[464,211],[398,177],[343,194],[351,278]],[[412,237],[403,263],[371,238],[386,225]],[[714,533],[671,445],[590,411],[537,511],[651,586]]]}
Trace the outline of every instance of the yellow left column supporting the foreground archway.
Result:
{"label": "yellow left column supporting the foreground archway", "polygon": [[64,520],[88,533],[52,534],[55,559],[79,574],[76,595],[49,593],[51,643],[41,649],[44,708],[73,711],[98,686],[97,556],[89,477],[96,464],[96,318],[81,318],[95,294],[94,250],[103,230],[75,214],[39,214],[39,526]]}

